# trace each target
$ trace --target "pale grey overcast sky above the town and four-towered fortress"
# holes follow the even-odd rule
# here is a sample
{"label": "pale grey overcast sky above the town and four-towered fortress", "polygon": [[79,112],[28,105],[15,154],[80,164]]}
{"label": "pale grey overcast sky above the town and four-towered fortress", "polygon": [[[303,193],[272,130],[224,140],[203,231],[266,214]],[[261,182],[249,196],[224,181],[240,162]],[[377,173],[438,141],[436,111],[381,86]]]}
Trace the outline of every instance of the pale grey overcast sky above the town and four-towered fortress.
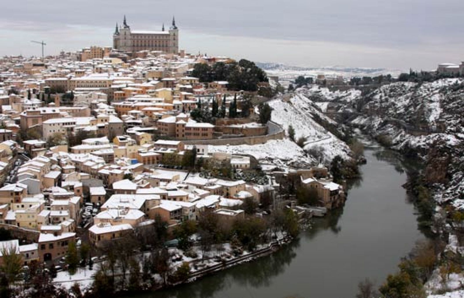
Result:
{"label": "pale grey overcast sky above the town and four-towered fortress", "polygon": [[464,60],[463,0],[4,0],[0,55],[111,45],[116,21],[180,47],[290,65],[433,69]]}

